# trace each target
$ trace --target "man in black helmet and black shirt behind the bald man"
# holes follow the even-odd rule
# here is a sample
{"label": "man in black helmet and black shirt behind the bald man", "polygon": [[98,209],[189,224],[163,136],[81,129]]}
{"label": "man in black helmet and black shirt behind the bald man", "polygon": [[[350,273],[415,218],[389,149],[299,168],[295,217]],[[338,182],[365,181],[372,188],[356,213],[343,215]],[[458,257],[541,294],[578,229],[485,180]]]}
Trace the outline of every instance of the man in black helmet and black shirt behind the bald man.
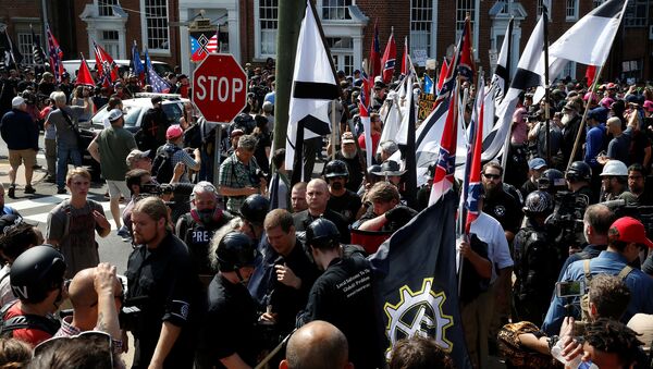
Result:
{"label": "man in black helmet and black shirt behind the bald man", "polygon": [[329,202],[326,207],[338,212],[348,224],[354,223],[360,209],[360,197],[347,189],[349,180],[347,164],[342,160],[332,160],[324,167],[324,180],[329,184]]}

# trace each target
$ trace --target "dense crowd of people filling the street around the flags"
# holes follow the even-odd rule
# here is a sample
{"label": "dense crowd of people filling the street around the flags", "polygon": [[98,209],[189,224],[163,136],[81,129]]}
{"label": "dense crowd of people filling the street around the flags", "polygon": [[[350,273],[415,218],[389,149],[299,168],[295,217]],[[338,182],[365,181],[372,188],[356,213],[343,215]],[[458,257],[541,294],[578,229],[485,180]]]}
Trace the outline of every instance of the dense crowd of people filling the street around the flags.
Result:
{"label": "dense crowd of people filling the street around the flags", "polygon": [[[192,112],[170,124],[161,96],[141,130],[126,131],[122,99],[147,89],[131,75],[97,94],[70,75],[57,83],[46,72],[37,83],[32,71],[0,70],[8,196],[20,165],[24,192],[35,193],[41,128],[48,180],[70,193],[41,234],[4,205],[0,186],[0,361],[119,368],[134,349],[133,368],[454,367],[433,340],[406,339],[386,353],[378,333],[367,257],[428,207],[433,176],[432,167],[423,186],[408,188],[394,160],[403,148],[380,139],[396,83],[373,84],[366,164],[360,73],[338,72],[344,95],[330,112],[338,132],[305,143],[304,176],[293,183],[285,150],[271,149],[274,61],[246,69],[248,104],[220,151],[204,134],[194,144],[202,122]],[[167,78],[182,95],[192,88],[184,75]],[[106,127],[81,147],[78,124],[100,108]],[[456,245],[457,323],[473,367],[486,368],[491,355],[510,367],[650,367],[652,116],[650,87],[591,93],[566,79],[549,104],[519,99],[507,160],[482,167],[479,216]],[[124,279],[98,253],[111,223],[88,198],[84,149],[100,163],[118,235],[134,245]]]}

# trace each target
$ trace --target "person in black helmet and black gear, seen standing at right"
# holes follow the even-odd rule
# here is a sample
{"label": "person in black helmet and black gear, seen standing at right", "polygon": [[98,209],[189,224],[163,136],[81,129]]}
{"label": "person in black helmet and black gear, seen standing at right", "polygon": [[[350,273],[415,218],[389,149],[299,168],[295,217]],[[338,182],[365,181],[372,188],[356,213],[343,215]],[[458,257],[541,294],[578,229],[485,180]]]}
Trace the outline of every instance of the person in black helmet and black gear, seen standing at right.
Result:
{"label": "person in black helmet and black gear, seen standing at right", "polygon": [[526,226],[515,235],[515,275],[513,299],[517,320],[542,323],[550,296],[567,249],[558,248],[549,234],[546,217],[553,212],[554,199],[549,193],[535,190],[526,198]]}

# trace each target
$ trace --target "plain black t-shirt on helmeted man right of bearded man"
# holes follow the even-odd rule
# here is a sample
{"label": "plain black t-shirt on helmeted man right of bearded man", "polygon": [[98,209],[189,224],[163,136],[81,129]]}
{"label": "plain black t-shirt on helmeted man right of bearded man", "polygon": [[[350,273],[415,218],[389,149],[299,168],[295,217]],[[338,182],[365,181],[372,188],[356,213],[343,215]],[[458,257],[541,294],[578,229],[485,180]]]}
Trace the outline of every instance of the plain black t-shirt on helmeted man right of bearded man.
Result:
{"label": "plain black t-shirt on helmeted man right of bearded man", "polygon": [[200,361],[207,368],[225,368],[220,359],[238,354],[254,367],[257,313],[247,287],[218,273],[209,284],[208,304],[198,346]]}

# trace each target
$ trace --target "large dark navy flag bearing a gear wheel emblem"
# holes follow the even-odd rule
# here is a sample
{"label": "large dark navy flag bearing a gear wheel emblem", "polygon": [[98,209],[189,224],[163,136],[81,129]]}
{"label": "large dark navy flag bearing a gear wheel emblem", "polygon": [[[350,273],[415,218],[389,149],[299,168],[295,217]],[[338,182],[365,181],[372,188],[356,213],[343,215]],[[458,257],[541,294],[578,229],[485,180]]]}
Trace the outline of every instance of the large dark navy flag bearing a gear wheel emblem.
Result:
{"label": "large dark navy flag bearing a gear wheel emblem", "polygon": [[386,358],[397,341],[435,340],[456,368],[471,368],[458,306],[453,192],[428,207],[370,256]]}

